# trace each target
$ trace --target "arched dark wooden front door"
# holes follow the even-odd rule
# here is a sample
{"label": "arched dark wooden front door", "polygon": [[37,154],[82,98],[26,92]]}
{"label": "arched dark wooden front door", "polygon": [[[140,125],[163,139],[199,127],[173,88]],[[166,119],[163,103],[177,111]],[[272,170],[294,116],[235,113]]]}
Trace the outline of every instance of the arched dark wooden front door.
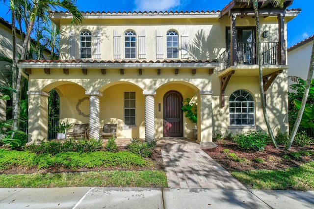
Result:
{"label": "arched dark wooden front door", "polygon": [[169,91],[163,97],[163,136],[183,136],[182,96],[177,91]]}

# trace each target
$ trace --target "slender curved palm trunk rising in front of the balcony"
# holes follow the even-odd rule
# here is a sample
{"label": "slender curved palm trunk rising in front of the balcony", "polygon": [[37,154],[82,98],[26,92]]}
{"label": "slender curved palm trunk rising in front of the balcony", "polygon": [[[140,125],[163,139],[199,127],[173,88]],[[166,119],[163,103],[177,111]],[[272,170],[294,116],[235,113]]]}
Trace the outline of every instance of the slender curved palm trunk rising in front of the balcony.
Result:
{"label": "slender curved palm trunk rising in front of the balcony", "polygon": [[262,102],[262,110],[265,119],[265,123],[267,126],[268,134],[274,144],[275,148],[278,148],[278,144],[275,140],[274,134],[270,128],[270,123],[266,111],[266,104],[264,98],[264,86],[263,86],[263,69],[262,69],[262,53],[261,53],[261,28],[260,28],[260,18],[259,18],[259,9],[258,9],[258,2],[254,0],[254,12],[255,12],[255,20],[256,20],[256,31],[257,31],[257,54],[258,54],[258,62],[259,62],[259,81],[260,81],[260,93],[261,93],[261,102]]}

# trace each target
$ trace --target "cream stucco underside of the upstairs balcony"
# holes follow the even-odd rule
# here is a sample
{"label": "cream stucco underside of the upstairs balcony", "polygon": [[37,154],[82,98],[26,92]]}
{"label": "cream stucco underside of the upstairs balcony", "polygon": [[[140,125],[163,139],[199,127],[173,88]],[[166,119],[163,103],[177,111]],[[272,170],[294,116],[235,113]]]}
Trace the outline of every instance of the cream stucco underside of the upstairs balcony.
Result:
{"label": "cream stucco underside of the upstairs balcony", "polygon": [[[276,72],[278,70],[288,69],[288,65],[263,65],[263,76]],[[234,71],[233,77],[258,77],[258,65],[235,65],[227,68],[218,74],[218,77],[223,77],[229,72]]]}

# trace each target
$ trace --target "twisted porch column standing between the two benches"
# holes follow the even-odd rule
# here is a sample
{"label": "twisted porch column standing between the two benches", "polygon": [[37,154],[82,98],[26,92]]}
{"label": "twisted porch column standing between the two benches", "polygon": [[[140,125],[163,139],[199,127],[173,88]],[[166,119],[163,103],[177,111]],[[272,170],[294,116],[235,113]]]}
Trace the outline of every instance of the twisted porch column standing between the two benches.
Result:
{"label": "twisted porch column standing between the two benches", "polygon": [[85,91],[85,94],[89,96],[89,138],[99,138],[99,97],[103,94],[99,91]]}

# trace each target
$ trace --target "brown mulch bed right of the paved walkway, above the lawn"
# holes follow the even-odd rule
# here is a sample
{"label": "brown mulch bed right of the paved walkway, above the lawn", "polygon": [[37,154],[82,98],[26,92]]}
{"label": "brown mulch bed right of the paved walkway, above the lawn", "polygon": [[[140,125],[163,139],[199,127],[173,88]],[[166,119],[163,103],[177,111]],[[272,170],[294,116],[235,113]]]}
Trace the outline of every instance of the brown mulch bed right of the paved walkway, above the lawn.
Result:
{"label": "brown mulch bed right of the paved walkway, above the lawn", "polygon": [[[272,145],[266,145],[262,152],[250,152],[239,150],[236,144],[231,140],[225,140],[223,143],[221,140],[213,141],[218,145],[216,148],[204,150],[210,157],[218,162],[227,171],[248,171],[248,170],[278,170],[291,167],[297,167],[309,161],[314,161],[314,155],[312,156],[300,156],[293,157],[291,153],[299,151],[310,151],[314,153],[314,146],[308,147],[292,147],[290,151],[285,150],[284,147],[275,149]],[[238,162],[230,157],[230,153],[241,158],[243,161]],[[227,157],[229,155],[229,157]],[[256,159],[260,158],[263,160]],[[260,161],[257,162],[256,160]]]}

